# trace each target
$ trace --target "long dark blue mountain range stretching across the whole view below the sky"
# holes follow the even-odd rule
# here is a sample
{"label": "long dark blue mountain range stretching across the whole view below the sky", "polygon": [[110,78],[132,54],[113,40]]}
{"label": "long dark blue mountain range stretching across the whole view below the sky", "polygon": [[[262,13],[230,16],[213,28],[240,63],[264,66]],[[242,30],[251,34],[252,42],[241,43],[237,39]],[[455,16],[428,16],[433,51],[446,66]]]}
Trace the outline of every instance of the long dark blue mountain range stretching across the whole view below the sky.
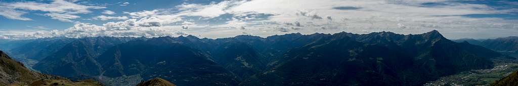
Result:
{"label": "long dark blue mountain range stretching across the whole view below the sky", "polygon": [[454,42],[434,30],[219,39],[59,37],[4,40],[0,49],[37,61],[32,68],[41,73],[94,78],[105,85],[137,83],[103,77],[133,82],[160,77],[177,85],[422,85],[461,71],[492,68],[493,60],[515,60],[495,52],[507,50],[496,47],[505,43],[491,44],[495,47],[486,49]]}

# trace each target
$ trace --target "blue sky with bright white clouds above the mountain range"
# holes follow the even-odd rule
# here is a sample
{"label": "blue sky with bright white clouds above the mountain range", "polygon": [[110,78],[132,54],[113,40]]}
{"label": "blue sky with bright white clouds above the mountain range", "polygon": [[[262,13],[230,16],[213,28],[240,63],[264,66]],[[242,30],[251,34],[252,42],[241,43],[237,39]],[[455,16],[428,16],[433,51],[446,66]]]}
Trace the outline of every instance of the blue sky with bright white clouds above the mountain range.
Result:
{"label": "blue sky with bright white clouds above the mountain range", "polygon": [[449,39],[518,36],[518,1],[0,0],[0,39],[432,30]]}

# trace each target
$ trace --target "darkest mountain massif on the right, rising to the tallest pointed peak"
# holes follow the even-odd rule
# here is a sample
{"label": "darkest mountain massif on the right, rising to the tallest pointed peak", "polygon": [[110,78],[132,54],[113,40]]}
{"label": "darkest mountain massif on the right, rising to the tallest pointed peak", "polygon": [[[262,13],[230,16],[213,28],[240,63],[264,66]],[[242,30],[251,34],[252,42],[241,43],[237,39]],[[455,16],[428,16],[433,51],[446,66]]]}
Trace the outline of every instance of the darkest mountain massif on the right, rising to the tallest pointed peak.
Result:
{"label": "darkest mountain massif on the right, rising to the tallest pointed peak", "polygon": [[305,36],[319,35],[307,45],[290,49],[274,61],[280,63],[240,85],[422,85],[465,70],[492,68],[491,59],[504,57],[480,46],[453,42],[435,30],[418,35],[342,32]]}

